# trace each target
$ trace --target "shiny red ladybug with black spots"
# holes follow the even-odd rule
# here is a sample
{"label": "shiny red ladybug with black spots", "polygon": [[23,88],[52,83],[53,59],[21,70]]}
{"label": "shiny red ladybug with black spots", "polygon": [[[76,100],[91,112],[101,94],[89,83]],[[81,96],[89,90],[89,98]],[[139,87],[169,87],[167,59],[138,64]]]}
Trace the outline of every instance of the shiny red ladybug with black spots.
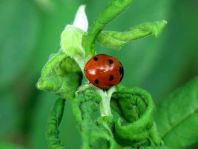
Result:
{"label": "shiny red ladybug with black spots", "polygon": [[98,54],[85,64],[84,74],[91,84],[106,90],[122,80],[124,70],[117,58]]}

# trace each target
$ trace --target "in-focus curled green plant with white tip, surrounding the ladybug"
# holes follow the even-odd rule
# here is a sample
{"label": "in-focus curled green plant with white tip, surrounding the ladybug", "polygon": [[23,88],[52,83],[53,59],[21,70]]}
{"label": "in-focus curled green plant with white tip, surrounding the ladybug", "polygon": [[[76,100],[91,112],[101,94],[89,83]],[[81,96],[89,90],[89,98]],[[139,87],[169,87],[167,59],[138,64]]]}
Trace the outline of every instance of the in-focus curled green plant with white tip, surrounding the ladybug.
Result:
{"label": "in-focus curled green plant with white tip, surrounding the ladybug", "polygon": [[[157,35],[166,24],[166,21],[163,20],[153,24],[139,25],[129,32],[109,34],[103,32],[105,36],[100,35],[104,26],[126,9],[131,2],[130,0],[112,1],[87,34],[83,32],[86,31],[84,26],[81,28],[78,25],[79,29],[82,29],[81,31],[75,27],[75,24],[74,26],[67,25],[61,36],[60,51],[45,65],[37,84],[39,89],[55,91],[62,98],[71,101],[73,113],[80,127],[83,149],[98,148],[100,143],[103,144],[102,148],[104,149],[162,145],[156,125],[153,122],[154,103],[150,95],[144,90],[117,87],[116,89],[109,89],[106,93],[106,91],[93,86],[89,85],[87,88],[80,84],[80,70],[83,71],[86,60],[94,56],[94,45],[98,35],[102,39],[99,42],[106,40],[105,44],[108,47],[114,43],[121,46],[123,43],[118,44],[119,40],[126,43],[148,35]],[[84,7],[81,6],[74,22],[78,22],[80,19],[78,16],[84,13],[83,11]],[[87,22],[86,19],[82,21]],[[84,22],[79,23],[87,24]],[[115,45],[113,46],[115,47]],[[73,74],[69,75],[70,73]],[[78,87],[79,90],[77,91]],[[76,94],[75,91],[77,91]],[[110,105],[111,98],[115,101],[114,108],[111,108]],[[99,107],[101,108],[99,109]],[[57,101],[47,129],[49,148],[63,148],[57,130],[62,119],[63,109],[64,102],[59,103]]]}

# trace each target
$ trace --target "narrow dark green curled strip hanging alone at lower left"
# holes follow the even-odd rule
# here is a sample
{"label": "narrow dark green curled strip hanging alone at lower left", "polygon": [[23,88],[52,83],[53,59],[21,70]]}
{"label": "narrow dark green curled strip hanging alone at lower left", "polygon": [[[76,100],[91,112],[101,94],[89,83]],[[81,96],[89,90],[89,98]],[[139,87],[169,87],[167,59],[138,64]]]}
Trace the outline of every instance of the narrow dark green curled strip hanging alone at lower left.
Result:
{"label": "narrow dark green curled strip hanging alone at lower left", "polygon": [[61,123],[65,107],[65,99],[58,99],[52,109],[48,120],[46,138],[49,149],[64,149],[59,139],[59,125]]}

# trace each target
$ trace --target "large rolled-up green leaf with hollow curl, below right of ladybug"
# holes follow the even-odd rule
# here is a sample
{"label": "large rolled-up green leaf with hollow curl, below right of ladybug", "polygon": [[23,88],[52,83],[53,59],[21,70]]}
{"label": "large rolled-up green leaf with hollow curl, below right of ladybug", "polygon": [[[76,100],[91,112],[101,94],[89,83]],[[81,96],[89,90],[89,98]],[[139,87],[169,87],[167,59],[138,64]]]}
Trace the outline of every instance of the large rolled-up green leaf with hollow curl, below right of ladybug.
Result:
{"label": "large rolled-up green leaf with hollow curl, below right of ladybug", "polygon": [[117,115],[115,136],[120,144],[139,146],[161,143],[153,124],[154,103],[146,91],[121,87],[113,94],[112,100]]}

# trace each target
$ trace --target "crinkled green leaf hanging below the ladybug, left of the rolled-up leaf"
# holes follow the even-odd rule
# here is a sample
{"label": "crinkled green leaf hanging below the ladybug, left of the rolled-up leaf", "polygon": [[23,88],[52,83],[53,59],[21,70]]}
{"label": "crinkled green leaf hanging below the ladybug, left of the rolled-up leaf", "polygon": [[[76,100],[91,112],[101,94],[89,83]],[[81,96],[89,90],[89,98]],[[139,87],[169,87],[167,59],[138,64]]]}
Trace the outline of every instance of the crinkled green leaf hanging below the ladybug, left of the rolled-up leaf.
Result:
{"label": "crinkled green leaf hanging below the ladybug, left of the rolled-up leaf", "polygon": [[115,149],[112,117],[100,117],[101,97],[94,88],[79,92],[71,101],[82,136],[82,149]]}

